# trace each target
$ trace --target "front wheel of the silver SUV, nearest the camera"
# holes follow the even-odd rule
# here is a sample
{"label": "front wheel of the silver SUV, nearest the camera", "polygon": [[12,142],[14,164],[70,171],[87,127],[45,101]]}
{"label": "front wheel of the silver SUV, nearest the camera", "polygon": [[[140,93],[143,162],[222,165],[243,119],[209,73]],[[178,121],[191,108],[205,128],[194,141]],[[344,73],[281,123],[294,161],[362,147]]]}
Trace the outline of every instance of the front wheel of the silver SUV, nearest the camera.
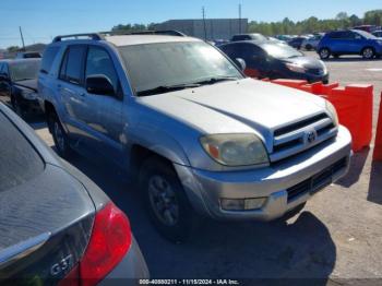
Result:
{"label": "front wheel of the silver SUV, nearest the camera", "polygon": [[141,167],[140,187],[156,229],[171,242],[186,241],[196,216],[171,164],[155,156],[146,159]]}

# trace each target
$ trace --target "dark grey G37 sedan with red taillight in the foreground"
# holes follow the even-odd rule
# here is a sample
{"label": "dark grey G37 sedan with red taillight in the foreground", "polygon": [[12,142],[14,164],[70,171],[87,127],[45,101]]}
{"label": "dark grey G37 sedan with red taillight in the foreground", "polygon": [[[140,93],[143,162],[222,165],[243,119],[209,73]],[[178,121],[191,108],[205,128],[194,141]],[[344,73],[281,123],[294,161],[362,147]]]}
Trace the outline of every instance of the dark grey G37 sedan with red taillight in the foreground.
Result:
{"label": "dark grey G37 sedan with red taillight in the foreground", "polygon": [[129,219],[94,182],[3,104],[0,132],[1,285],[148,276]]}

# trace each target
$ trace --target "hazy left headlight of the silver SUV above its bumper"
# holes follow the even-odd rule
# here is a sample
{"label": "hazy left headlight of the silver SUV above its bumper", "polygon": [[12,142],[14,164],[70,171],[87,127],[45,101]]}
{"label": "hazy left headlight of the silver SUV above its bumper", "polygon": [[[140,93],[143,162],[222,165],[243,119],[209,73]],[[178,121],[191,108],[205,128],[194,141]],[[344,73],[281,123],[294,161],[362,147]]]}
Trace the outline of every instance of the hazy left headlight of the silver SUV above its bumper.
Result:
{"label": "hazy left headlight of the silver SUV above its bumper", "polygon": [[254,134],[213,134],[200,139],[205,152],[225,166],[250,166],[267,164],[263,142]]}

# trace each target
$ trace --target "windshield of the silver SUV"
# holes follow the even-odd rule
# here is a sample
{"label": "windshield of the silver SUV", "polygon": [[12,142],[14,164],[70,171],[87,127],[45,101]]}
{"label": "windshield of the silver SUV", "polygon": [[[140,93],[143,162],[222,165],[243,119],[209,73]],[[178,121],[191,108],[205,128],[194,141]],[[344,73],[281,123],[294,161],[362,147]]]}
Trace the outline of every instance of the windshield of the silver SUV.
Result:
{"label": "windshield of the silver SUV", "polygon": [[203,41],[133,45],[119,50],[138,95],[243,78],[226,57]]}

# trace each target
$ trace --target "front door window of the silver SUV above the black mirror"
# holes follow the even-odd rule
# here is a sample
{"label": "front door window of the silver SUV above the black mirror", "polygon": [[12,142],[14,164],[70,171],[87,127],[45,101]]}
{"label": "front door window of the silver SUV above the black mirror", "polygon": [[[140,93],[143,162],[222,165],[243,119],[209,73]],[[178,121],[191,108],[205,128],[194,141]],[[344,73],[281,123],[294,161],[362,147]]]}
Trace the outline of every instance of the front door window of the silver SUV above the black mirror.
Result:
{"label": "front door window of the silver SUV above the black mirror", "polygon": [[108,78],[115,87],[115,92],[118,91],[118,75],[109,53],[103,48],[89,46],[86,58],[85,79],[95,74],[103,74]]}

